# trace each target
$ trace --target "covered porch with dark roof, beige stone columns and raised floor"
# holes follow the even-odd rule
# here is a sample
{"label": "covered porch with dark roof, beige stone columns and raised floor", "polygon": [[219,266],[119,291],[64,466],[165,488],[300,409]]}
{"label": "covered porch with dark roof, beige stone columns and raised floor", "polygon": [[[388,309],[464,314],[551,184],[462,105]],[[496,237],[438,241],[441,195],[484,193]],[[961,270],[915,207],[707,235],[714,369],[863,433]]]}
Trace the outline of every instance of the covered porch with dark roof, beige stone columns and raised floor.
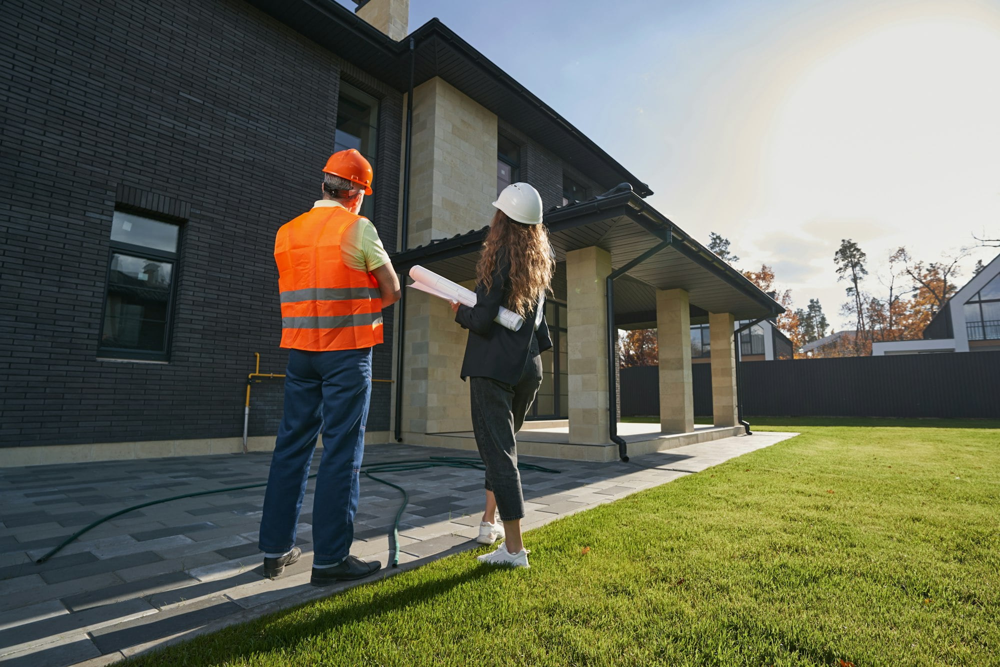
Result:
{"label": "covered porch with dark roof, beige stone columns and raised floor", "polygon": [[[545,220],[557,260],[546,310],[555,347],[543,354],[521,451],[610,461],[742,433],[734,322],[772,317],[781,306],[627,187],[552,209]],[[393,263],[471,286],[485,233],[437,239]],[[440,299],[409,289],[405,299],[396,439],[475,449],[468,388],[457,381],[465,332]],[[710,428],[694,425],[690,326],[698,323],[709,324],[713,349]],[[617,330],[650,327],[659,339],[660,423],[619,424]]]}

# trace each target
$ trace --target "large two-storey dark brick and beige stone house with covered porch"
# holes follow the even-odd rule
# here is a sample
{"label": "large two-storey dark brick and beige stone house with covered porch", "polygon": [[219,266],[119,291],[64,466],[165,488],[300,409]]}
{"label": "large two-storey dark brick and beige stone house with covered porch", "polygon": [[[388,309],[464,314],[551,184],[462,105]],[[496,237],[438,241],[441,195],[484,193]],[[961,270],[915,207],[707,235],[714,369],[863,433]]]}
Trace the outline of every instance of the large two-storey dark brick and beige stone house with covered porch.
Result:
{"label": "large two-storey dark brick and beige stone house with covered porch", "polygon": [[[287,360],[274,234],[347,147],[375,167],[362,212],[402,273],[471,280],[497,191],[541,192],[556,348],[534,417],[560,431],[525,453],[624,454],[613,331],[637,321],[659,327],[658,428],[739,428],[734,322],[781,306],[443,23],[410,32],[405,1],[360,5],[5,6],[0,465],[273,447]],[[374,352],[367,442],[472,449],[454,435],[471,428],[464,332],[447,303],[405,291]],[[707,435],[694,433],[692,323],[708,323],[713,354]]]}

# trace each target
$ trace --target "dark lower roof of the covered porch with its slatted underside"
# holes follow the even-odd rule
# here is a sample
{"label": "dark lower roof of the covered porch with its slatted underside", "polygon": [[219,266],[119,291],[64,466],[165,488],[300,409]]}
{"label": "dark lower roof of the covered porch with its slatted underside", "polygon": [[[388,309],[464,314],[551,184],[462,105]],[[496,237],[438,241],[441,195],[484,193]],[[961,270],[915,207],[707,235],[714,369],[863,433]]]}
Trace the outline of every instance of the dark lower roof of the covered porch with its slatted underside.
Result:
{"label": "dark lower roof of the covered porch with its slatted underside", "polygon": [[[738,319],[774,317],[780,303],[720,259],[635,192],[591,199],[545,214],[556,260],[596,245],[611,254],[613,268],[624,266],[663,241],[668,245],[631,268],[615,283],[615,321],[623,328],[655,325],[656,289],[683,288],[692,305],[692,323],[708,312],[732,312]],[[396,269],[407,273],[422,264],[453,280],[475,276],[487,228],[395,254]]]}

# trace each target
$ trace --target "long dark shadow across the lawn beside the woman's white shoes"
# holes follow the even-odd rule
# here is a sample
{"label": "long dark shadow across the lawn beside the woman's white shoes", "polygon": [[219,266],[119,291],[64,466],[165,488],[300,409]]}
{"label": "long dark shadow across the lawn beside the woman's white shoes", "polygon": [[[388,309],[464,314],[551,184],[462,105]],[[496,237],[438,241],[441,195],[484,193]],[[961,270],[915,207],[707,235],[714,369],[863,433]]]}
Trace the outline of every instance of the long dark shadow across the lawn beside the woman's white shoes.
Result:
{"label": "long dark shadow across the lawn beside the woman's white shoes", "polygon": [[[420,562],[432,559],[421,559],[407,565],[413,567]],[[396,576],[411,574],[401,572]],[[426,571],[424,571],[426,572]],[[295,647],[311,637],[321,636],[338,628],[370,621],[375,617],[389,614],[405,607],[412,607],[431,600],[447,591],[467,582],[500,573],[498,568],[478,565],[459,575],[425,581],[408,585],[400,590],[389,593],[376,593],[364,603],[351,604],[331,611],[321,612],[300,621],[291,620],[296,614],[308,607],[323,604],[324,600],[349,594],[351,590],[332,592],[329,598],[313,600],[299,607],[286,609],[263,618],[222,628],[204,637],[192,639],[162,650],[153,651],[138,656],[135,662],[128,665],[161,665],[164,660],[173,659],[178,655],[185,657],[185,664],[217,664],[228,661],[246,660],[253,664],[255,654],[295,652]],[[395,577],[391,577],[395,579]],[[368,585],[383,585],[389,577],[371,581]],[[249,640],[249,641],[248,641]]]}

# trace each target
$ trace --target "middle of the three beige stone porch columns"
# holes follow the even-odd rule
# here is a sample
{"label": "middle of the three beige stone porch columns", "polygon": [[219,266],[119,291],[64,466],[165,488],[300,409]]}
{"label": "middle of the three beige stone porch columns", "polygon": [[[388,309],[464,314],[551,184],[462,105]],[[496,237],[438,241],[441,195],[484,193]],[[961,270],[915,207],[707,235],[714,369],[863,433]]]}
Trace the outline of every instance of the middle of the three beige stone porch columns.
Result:
{"label": "middle of the three beige stone porch columns", "polygon": [[691,304],[686,289],[656,290],[656,345],[660,354],[660,429],[664,433],[691,433]]}

